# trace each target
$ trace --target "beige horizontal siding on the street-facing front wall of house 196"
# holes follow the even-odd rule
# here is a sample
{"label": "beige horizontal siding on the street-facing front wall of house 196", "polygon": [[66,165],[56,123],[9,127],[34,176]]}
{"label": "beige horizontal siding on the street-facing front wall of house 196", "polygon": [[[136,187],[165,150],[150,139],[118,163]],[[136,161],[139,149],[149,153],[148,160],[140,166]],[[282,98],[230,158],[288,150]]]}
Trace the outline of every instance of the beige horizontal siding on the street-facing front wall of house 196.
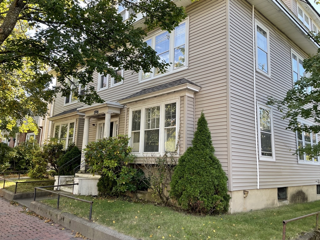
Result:
{"label": "beige horizontal siding on the street-facing front wall of house 196", "polygon": [[[221,161],[223,169],[227,173],[227,90],[226,90],[226,0],[196,1],[186,9],[189,18],[189,49],[188,68],[182,71],[172,71],[165,76],[138,82],[138,73],[132,71],[124,72],[124,83],[115,87],[99,91],[99,95],[106,101],[119,101],[142,89],[150,88],[160,84],[186,78],[200,85],[201,91],[195,94],[194,116],[188,112],[188,144],[193,138],[195,117],[197,121],[202,110],[207,117],[209,129],[212,134],[212,143],[216,149],[216,156]],[[93,75],[94,86],[98,85],[98,74]],[[148,101],[148,100],[146,100]],[[83,106],[82,103],[74,103],[63,106],[64,98],[57,96],[54,114],[67,109]],[[187,105],[190,107],[189,104]],[[191,111],[192,108],[189,108]],[[127,116],[125,134],[128,134],[129,109]],[[93,120],[90,121],[89,141],[94,140]],[[123,120],[119,123],[119,131],[124,131]],[[192,132],[192,134],[191,134]]]}

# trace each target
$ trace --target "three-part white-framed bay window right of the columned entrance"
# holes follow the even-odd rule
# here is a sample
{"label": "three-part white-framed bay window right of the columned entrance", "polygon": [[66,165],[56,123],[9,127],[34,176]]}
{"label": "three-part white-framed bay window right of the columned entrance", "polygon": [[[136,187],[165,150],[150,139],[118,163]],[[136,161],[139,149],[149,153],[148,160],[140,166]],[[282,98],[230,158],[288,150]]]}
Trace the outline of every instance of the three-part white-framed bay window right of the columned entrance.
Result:
{"label": "three-part white-framed bay window right of the columned entrance", "polygon": [[130,110],[133,153],[173,152],[177,142],[177,101]]}

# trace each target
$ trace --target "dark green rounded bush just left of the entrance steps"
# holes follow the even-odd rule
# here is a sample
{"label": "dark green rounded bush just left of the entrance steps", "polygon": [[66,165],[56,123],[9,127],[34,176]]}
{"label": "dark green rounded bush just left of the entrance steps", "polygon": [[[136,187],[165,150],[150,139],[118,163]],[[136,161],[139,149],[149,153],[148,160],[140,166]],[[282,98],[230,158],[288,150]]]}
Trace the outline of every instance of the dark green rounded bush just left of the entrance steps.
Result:
{"label": "dark green rounded bush just left of the entrance steps", "polygon": [[60,156],[58,160],[58,167],[63,166],[70,160],[74,159],[75,162],[71,161],[60,169],[60,175],[73,175],[73,169],[81,163],[81,151],[75,144],[70,144],[63,156]]}

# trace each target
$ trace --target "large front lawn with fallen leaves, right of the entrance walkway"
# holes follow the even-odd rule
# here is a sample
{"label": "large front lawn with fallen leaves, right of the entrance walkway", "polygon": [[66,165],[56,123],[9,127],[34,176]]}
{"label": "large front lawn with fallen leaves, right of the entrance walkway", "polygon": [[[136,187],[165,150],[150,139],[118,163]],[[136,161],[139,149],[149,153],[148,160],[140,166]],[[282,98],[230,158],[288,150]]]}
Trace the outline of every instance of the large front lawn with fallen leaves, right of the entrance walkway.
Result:
{"label": "large front lawn with fallen leaves, right of the entrance walkway", "polygon": [[[133,203],[90,196],[80,198],[94,201],[92,220],[138,239],[188,240],[274,240],[282,239],[282,221],[319,211],[320,201],[290,204],[274,209],[195,216],[153,204]],[[57,206],[57,200],[43,200]],[[60,197],[59,209],[89,219],[90,204]],[[286,238],[315,228],[316,216],[288,223]]]}

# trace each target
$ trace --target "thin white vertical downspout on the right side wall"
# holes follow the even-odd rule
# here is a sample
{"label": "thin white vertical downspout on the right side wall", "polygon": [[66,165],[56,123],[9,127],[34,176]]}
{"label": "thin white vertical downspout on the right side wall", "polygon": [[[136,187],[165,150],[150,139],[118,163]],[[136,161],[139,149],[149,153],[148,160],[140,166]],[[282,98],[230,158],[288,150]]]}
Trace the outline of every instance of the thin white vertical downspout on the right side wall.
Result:
{"label": "thin white vertical downspout on the right side wall", "polygon": [[257,124],[257,104],[256,104],[256,57],[254,41],[254,5],[252,5],[252,48],[253,48],[253,100],[254,100],[254,132],[256,138],[256,159],[257,159],[257,188],[259,189],[259,149],[258,149],[258,124]]}

